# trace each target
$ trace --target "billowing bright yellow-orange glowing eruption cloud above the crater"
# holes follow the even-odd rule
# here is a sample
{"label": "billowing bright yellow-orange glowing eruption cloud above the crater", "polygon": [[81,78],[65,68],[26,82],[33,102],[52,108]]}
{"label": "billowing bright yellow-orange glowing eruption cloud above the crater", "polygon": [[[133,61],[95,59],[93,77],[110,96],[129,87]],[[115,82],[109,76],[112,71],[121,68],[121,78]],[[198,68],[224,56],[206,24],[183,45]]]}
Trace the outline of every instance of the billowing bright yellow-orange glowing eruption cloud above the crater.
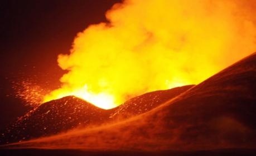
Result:
{"label": "billowing bright yellow-orange glowing eruption cloud above the crater", "polygon": [[[249,2],[249,1],[248,1]],[[75,95],[113,108],[134,95],[197,84],[255,51],[255,16],[245,1],[127,0],[60,54],[68,72],[45,101]]]}

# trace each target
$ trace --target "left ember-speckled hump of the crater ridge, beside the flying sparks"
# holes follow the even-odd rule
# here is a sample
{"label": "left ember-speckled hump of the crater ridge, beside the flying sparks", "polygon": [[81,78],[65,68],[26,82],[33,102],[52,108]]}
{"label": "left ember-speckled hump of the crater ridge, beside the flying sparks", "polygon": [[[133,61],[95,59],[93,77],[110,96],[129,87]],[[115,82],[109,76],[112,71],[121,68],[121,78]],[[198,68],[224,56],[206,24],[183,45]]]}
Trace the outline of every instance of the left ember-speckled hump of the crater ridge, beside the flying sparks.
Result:
{"label": "left ember-speckled hump of the crater ridge, beside the flying sparks", "polygon": [[78,126],[100,124],[108,119],[110,113],[72,96],[52,100],[31,110],[8,127],[2,133],[1,144],[57,134]]}

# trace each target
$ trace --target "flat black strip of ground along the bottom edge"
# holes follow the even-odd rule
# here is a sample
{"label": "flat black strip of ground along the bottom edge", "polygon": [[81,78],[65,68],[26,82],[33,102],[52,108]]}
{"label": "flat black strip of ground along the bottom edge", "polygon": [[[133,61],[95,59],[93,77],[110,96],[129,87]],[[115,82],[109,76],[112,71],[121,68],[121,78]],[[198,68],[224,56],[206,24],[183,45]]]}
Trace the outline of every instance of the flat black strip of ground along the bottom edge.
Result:
{"label": "flat black strip of ground along the bottom edge", "polygon": [[1,156],[131,156],[131,155],[147,155],[147,156],[255,156],[256,150],[254,149],[219,149],[219,150],[199,150],[193,152],[185,151],[162,151],[162,152],[142,152],[142,151],[97,151],[88,152],[83,150],[52,150],[52,149],[5,149],[0,150]]}

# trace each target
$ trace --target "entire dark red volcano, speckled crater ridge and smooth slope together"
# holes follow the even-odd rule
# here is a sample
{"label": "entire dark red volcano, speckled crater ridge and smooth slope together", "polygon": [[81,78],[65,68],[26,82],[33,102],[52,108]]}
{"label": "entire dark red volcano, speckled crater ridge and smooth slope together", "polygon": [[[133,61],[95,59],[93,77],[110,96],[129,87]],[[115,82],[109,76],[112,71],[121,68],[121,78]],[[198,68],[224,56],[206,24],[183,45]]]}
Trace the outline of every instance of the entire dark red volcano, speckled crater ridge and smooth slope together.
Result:
{"label": "entire dark red volcano, speckled crater ridge and smooth slope together", "polygon": [[[38,130],[28,138],[42,138],[4,147],[104,150],[107,153],[121,150],[130,154],[131,151],[154,151],[163,152],[162,155],[166,151],[168,155],[170,151],[199,150],[228,151],[232,155],[230,152],[234,154],[238,150],[240,155],[254,155],[255,82],[256,53],[198,85],[146,93],[110,110],[75,97],[53,100],[20,118],[7,132],[13,136],[32,136],[26,125],[33,127],[33,132]],[[81,128],[57,134],[80,123]],[[22,133],[16,133],[24,128]],[[46,134],[52,136],[44,137]]]}

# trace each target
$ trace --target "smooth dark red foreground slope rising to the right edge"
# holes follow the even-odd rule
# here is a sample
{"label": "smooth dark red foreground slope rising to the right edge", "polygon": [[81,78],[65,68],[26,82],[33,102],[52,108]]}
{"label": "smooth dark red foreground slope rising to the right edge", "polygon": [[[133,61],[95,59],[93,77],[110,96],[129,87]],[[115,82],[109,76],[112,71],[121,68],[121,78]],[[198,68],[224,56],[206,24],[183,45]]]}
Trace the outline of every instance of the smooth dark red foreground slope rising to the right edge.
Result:
{"label": "smooth dark red foreground slope rising to the right edge", "polygon": [[178,97],[123,122],[13,144],[84,150],[256,147],[256,53]]}

